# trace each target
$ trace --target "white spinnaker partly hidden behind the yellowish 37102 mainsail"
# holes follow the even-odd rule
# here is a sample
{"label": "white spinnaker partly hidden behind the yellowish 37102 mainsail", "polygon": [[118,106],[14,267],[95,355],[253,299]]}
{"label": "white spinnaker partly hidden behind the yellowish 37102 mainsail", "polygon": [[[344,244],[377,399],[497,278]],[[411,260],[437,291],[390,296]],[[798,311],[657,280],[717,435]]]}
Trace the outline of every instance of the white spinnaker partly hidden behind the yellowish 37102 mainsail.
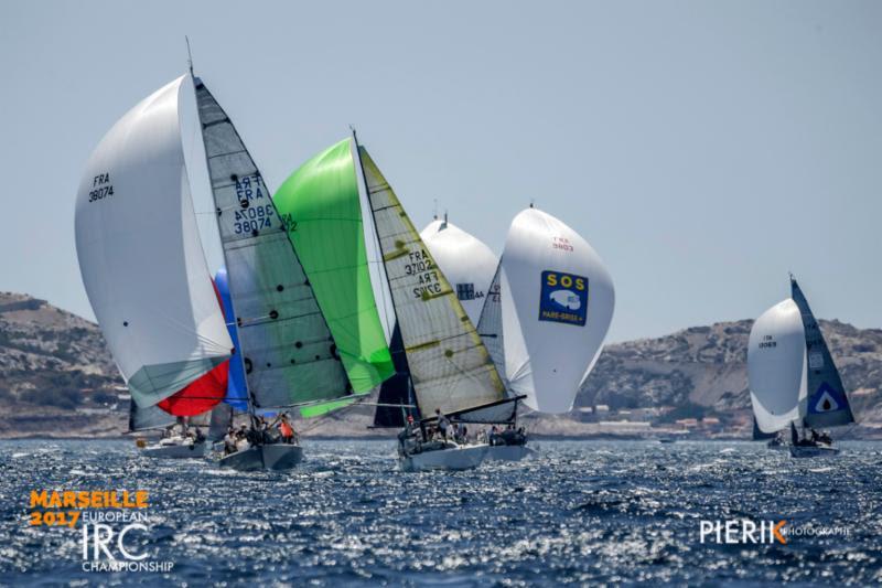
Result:
{"label": "white spinnaker partly hidden behind the yellowish 37102 mainsail", "polygon": [[499,259],[477,237],[448,221],[432,221],[420,233],[456,291],[472,324],[477,324]]}

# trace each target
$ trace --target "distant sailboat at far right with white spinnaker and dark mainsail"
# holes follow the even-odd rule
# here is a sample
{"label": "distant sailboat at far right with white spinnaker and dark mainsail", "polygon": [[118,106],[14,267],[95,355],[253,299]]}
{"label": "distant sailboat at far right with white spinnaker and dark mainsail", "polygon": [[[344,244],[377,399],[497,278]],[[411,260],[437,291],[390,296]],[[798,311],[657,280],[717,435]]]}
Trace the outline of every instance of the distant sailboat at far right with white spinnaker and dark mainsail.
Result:
{"label": "distant sailboat at far right with white spinnaker and dark mainsail", "polygon": [[817,428],[848,425],[854,416],[820,327],[793,276],[790,298],[766,310],[751,328],[747,377],[761,434],[789,430],[793,457],[839,452]]}

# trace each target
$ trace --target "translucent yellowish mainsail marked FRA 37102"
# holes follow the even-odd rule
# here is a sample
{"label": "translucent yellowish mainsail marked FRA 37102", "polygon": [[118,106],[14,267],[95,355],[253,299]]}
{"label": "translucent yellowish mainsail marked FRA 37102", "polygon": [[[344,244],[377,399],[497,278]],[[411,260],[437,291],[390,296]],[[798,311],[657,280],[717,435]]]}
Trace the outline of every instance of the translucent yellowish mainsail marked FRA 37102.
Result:
{"label": "translucent yellowish mainsail marked FRA 37102", "polygon": [[423,415],[503,398],[477,331],[376,163],[358,148],[398,327]]}

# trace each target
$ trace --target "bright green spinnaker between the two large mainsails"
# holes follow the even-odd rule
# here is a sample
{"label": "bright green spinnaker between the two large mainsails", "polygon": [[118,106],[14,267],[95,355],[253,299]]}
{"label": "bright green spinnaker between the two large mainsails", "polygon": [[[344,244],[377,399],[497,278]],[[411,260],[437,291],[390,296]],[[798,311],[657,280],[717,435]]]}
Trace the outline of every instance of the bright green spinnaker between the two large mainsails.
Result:
{"label": "bright green spinnaker between the two large mainsails", "polygon": [[395,374],[367,265],[349,139],[292,173],[273,196],[337,345],[353,391]]}

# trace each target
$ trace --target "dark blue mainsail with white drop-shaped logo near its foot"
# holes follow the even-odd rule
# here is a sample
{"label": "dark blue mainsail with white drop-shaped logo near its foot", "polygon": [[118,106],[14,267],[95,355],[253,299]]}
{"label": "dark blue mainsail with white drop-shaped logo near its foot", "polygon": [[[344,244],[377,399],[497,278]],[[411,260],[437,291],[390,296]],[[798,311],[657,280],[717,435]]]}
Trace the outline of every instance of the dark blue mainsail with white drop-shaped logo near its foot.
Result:
{"label": "dark blue mainsail with white drop-shaped logo near its foot", "polygon": [[803,321],[807,353],[808,398],[804,411],[809,427],[838,427],[854,423],[851,406],[839,370],[820,332],[818,321],[796,280],[790,278],[790,292]]}

